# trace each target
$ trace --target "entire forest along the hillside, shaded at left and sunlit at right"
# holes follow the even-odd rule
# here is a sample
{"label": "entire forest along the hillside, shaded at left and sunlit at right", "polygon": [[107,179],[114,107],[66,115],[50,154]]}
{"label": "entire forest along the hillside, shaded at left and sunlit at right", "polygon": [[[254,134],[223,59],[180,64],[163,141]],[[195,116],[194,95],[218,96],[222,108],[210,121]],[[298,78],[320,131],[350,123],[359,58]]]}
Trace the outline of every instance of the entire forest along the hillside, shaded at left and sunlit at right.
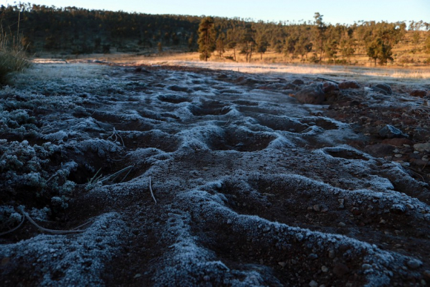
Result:
{"label": "entire forest along the hillside, shaded at left and sunlit at right", "polygon": [[[202,23],[209,19],[210,41],[202,46]],[[325,23],[315,13],[309,22],[263,22],[252,19],[149,15],[143,13],[87,10],[19,3],[0,7],[3,33],[22,34],[29,54],[108,54],[111,52],[150,54],[151,51],[202,51],[206,56],[246,61],[273,51],[303,63],[351,63],[361,53],[375,65],[393,62],[393,47],[407,42],[413,53],[428,54],[430,24],[427,22]],[[200,29],[199,29],[200,25]],[[207,37],[208,35],[206,35]],[[200,38],[200,40],[199,40]],[[209,39],[207,38],[207,39]],[[228,50],[229,54],[225,54]],[[256,56],[257,55],[257,56]],[[206,58],[203,56],[203,58]],[[207,58],[206,58],[207,59]]]}

